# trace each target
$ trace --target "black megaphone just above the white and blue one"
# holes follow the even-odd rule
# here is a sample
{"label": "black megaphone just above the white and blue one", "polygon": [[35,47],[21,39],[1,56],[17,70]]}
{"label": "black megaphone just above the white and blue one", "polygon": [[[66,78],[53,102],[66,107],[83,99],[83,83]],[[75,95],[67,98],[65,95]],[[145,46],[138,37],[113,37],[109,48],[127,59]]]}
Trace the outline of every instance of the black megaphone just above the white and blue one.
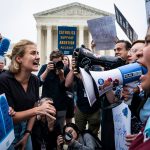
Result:
{"label": "black megaphone just above the white and blue one", "polygon": [[108,69],[114,69],[122,65],[125,65],[125,61],[120,57],[100,56],[97,54],[93,54],[89,49],[85,47],[76,48],[74,50],[73,56],[76,58],[77,68],[100,65],[108,70]]}

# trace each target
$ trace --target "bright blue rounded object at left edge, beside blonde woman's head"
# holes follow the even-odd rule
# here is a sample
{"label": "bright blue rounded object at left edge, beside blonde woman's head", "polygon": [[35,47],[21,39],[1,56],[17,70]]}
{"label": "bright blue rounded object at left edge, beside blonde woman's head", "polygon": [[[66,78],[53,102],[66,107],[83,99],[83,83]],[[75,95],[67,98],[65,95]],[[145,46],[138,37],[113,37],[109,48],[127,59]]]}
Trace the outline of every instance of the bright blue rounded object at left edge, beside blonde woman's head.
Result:
{"label": "bright blue rounded object at left edge, beside blonde woman's head", "polygon": [[0,41],[0,55],[4,56],[4,54],[7,52],[10,45],[10,40],[7,38],[2,38]]}

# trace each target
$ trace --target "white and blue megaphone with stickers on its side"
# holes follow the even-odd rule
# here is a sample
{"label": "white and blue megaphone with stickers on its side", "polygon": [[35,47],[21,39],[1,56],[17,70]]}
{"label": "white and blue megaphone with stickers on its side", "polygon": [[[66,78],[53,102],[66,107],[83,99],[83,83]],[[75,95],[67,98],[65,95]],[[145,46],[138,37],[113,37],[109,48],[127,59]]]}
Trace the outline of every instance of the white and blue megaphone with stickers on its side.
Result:
{"label": "white and blue megaphone with stickers on its side", "polygon": [[86,95],[92,106],[96,101],[93,80],[99,96],[101,96],[113,87],[138,81],[140,76],[147,72],[147,69],[138,63],[132,63],[109,71],[89,71],[90,73],[88,73],[85,69],[80,68],[80,72]]}

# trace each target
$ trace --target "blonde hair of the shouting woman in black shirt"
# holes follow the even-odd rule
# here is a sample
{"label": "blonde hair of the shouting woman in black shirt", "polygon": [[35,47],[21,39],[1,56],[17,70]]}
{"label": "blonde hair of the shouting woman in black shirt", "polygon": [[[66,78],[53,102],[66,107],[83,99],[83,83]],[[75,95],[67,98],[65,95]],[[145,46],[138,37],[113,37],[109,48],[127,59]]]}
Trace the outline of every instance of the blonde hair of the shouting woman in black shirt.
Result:
{"label": "blonde hair of the shouting woman in black shirt", "polygon": [[10,55],[7,55],[11,59],[11,63],[9,65],[9,70],[12,73],[18,73],[20,71],[20,63],[16,61],[16,57],[20,56],[23,57],[25,54],[25,49],[27,45],[36,45],[34,42],[29,40],[21,40],[16,43],[12,49]]}

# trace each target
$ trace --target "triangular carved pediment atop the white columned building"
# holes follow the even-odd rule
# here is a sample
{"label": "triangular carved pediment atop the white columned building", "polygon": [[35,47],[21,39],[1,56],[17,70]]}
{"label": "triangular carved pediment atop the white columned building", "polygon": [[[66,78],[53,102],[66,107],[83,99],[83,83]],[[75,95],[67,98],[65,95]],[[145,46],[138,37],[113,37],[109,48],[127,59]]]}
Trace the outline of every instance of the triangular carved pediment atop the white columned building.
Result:
{"label": "triangular carved pediment atop the white columned building", "polygon": [[34,17],[52,17],[52,16],[107,16],[111,13],[81,4],[71,3],[64,6],[56,7],[54,9],[46,10],[40,13],[34,14]]}

